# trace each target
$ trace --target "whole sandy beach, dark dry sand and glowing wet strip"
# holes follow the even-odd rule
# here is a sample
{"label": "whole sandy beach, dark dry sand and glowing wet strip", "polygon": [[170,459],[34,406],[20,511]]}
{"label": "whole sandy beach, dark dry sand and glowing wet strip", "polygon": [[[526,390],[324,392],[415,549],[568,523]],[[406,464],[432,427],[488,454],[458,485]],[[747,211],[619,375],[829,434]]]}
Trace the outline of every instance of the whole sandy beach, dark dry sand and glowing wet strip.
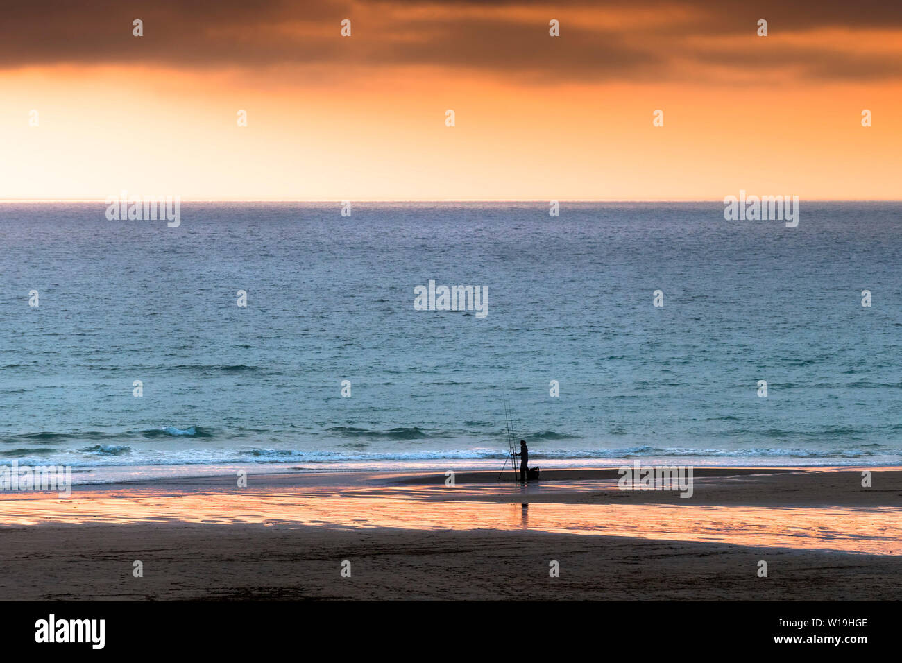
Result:
{"label": "whole sandy beach, dark dry sand and glowing wet strip", "polygon": [[695,468],[689,499],[615,469],[2,493],[0,599],[898,600],[902,470],[871,471]]}

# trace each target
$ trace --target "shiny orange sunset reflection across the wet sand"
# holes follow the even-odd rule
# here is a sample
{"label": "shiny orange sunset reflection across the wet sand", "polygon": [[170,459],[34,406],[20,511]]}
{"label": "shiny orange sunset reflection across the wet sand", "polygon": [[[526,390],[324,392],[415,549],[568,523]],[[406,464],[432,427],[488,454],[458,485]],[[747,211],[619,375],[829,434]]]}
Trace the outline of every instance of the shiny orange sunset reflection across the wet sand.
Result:
{"label": "shiny orange sunset reflection across the wet sand", "polygon": [[[595,483],[595,492],[611,486]],[[297,524],[332,528],[529,529],[641,539],[716,541],[757,547],[819,548],[902,555],[902,507],[812,508],[689,503],[529,502],[538,489],[469,485],[209,487],[184,493],[152,487],[0,496],[0,522],[201,522]],[[542,493],[588,491],[549,484]],[[488,497],[499,499],[491,500]],[[505,499],[516,502],[505,502]]]}

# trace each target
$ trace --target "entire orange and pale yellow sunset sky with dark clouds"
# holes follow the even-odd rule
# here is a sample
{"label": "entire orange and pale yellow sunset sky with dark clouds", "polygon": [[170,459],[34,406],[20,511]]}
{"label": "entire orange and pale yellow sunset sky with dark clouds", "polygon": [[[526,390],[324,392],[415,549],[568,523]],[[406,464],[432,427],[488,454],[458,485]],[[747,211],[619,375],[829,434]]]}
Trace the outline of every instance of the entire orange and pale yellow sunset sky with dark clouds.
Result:
{"label": "entire orange and pale yellow sunset sky with dark clouds", "polygon": [[0,26],[0,198],[902,198],[902,4],[68,5]]}

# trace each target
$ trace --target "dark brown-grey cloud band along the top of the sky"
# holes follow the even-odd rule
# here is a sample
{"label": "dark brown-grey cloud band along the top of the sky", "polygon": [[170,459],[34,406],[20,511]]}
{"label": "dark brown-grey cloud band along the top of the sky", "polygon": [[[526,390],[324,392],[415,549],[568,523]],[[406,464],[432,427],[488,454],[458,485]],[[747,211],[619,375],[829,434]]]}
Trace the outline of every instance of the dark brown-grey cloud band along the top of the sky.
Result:
{"label": "dark brown-grey cloud band along the top of the sky", "polygon": [[[759,18],[771,35],[824,27],[898,29],[902,2],[885,0],[608,0],[539,3],[531,0],[436,0],[354,3],[350,0],[3,0],[0,68],[47,64],[161,65],[184,69],[257,68],[299,64],[385,67],[435,65],[535,80],[667,79],[673,63],[737,69],[796,67],[812,78],[897,78],[897,60],[849,54],[835,44],[811,48],[783,42],[750,49]],[[421,10],[438,7],[427,18]],[[491,17],[474,17],[493,7]],[[524,8],[547,9],[561,21],[525,23]],[[630,30],[581,25],[588,12],[678,7],[687,20]],[[416,10],[416,11],[415,11]],[[460,11],[456,11],[460,10]],[[653,14],[652,14],[653,15]],[[451,16],[452,18],[448,18]],[[132,36],[132,21],[144,36]],[[354,21],[354,37],[339,37],[339,22]],[[736,48],[687,48],[686,37],[735,37]]]}

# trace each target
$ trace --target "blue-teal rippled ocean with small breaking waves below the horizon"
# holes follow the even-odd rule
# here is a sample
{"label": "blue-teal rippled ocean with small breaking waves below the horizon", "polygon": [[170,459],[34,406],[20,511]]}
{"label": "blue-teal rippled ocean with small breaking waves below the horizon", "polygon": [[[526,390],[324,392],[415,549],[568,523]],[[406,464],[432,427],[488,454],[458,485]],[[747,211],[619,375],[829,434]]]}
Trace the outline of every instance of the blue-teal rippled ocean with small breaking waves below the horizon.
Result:
{"label": "blue-teal rippled ocean with small breaking waves below the horizon", "polygon": [[897,465],[902,204],[723,209],[0,204],[0,465],[501,469],[505,398],[539,467]]}

